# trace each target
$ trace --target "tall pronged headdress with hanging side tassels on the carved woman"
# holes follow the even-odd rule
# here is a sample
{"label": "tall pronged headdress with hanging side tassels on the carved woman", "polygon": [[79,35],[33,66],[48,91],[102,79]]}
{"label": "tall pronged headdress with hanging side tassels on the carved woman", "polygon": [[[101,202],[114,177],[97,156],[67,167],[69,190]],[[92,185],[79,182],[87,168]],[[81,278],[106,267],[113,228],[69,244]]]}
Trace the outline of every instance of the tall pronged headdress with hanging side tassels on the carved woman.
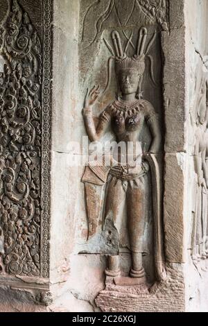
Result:
{"label": "tall pronged headdress with hanging side tassels on the carved woman", "polygon": [[[123,32],[123,33],[125,35],[125,32]],[[127,37],[125,35],[125,37],[128,39],[128,41],[125,45],[124,51],[122,49],[121,37],[120,37],[118,31],[112,32],[112,43],[114,45],[114,49],[112,49],[112,46],[110,45],[109,42],[107,42],[107,40],[105,40],[105,38],[104,38],[104,42],[107,46],[107,49],[109,49],[110,53],[112,53],[112,57],[110,58],[110,60],[114,59],[116,76],[118,76],[119,72],[122,71],[123,69],[132,69],[132,70],[137,71],[138,74],[141,75],[139,85],[138,85],[138,96],[141,96],[141,83],[142,83],[143,74],[144,74],[145,67],[146,67],[145,66],[146,58],[150,59],[150,65],[151,65],[150,77],[152,78],[153,83],[156,84],[155,78],[153,76],[153,58],[151,57],[151,55],[148,54],[150,47],[153,45],[153,42],[155,40],[156,33],[153,34],[153,37],[151,38],[150,42],[148,43],[148,45],[146,46],[146,49],[145,49],[146,39],[147,39],[147,29],[145,27],[141,27],[139,29],[139,37],[138,37],[138,42],[137,42],[136,53],[132,57],[129,57],[126,53],[128,51],[128,47],[130,46],[130,44],[135,49],[134,44],[132,44],[132,36],[133,36],[133,31],[132,31],[132,34],[130,35],[130,37]],[[110,60],[109,60],[109,62],[110,62]],[[107,80],[107,86],[105,87],[105,90],[108,88],[108,86],[110,84],[110,79],[111,79],[110,78],[111,77],[110,76],[111,75],[110,63],[109,63],[108,69],[109,69],[108,80]]]}

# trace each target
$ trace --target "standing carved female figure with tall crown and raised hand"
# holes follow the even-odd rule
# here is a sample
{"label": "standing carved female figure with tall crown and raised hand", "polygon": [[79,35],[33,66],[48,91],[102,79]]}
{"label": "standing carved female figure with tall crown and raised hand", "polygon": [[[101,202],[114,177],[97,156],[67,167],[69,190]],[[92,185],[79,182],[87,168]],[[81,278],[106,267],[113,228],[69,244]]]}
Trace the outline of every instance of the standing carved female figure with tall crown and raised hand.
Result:
{"label": "standing carved female figure with tall crown and raised hand", "polygon": [[[85,194],[87,203],[87,215],[89,219],[89,237],[96,234],[98,218],[100,216],[101,191],[105,187],[105,216],[106,221],[111,221],[119,234],[119,246],[127,247],[131,252],[132,267],[129,276],[123,275],[119,266],[119,255],[109,255],[108,266],[105,270],[107,280],[112,277],[118,286],[131,286],[146,284],[146,273],[143,266],[144,255],[144,228],[145,228],[145,201],[146,187],[150,187],[154,197],[154,234],[155,234],[155,273],[157,280],[166,277],[164,269],[163,234],[162,234],[162,210],[161,210],[161,175],[159,171],[159,154],[162,153],[162,135],[159,126],[157,112],[148,101],[141,98],[141,82],[145,70],[145,57],[147,29],[139,29],[137,52],[128,57],[126,52],[130,39],[125,46],[121,46],[119,32],[112,32],[114,44],[115,74],[118,85],[117,99],[101,113],[98,125],[94,123],[92,108],[98,96],[99,86],[87,91],[83,117],[87,135],[90,141],[98,141],[103,133],[111,126],[116,135],[117,143],[132,142],[132,151],[125,153],[125,157],[133,157],[133,160],[122,161],[121,153],[114,160],[114,153],[110,155],[110,165],[100,164],[96,166],[89,162],[83,175],[85,182]],[[113,49],[112,49],[113,51]],[[144,125],[148,126],[151,141],[143,155],[135,156],[134,148],[141,136]],[[151,182],[148,182],[148,174]],[[151,203],[151,198],[148,202]],[[126,203],[127,221],[123,230],[121,207]],[[112,231],[109,230],[109,234]],[[112,240],[115,240],[112,238]],[[103,252],[108,254],[108,252]],[[106,280],[106,281],[107,281]]]}

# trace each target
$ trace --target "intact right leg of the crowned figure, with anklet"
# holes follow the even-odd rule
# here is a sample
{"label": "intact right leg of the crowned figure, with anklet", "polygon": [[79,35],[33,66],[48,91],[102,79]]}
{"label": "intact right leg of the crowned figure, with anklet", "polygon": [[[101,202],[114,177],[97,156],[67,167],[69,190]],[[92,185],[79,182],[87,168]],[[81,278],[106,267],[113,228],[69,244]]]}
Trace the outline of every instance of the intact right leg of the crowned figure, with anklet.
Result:
{"label": "intact right leg of the crowned figure, with anklet", "polygon": [[144,184],[141,183],[140,186],[131,184],[127,191],[128,232],[130,250],[132,252],[130,276],[132,277],[145,276],[142,262],[145,226],[145,189]]}

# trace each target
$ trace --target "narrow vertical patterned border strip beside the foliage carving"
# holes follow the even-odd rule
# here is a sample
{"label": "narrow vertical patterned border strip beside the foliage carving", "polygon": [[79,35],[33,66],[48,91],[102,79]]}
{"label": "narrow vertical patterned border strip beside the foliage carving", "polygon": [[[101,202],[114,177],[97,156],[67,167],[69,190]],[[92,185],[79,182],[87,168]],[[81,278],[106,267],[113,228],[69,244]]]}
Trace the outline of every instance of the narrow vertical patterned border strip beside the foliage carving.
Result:
{"label": "narrow vertical patterned border strip beside the foliage carving", "polygon": [[51,48],[53,0],[44,0],[44,49],[42,77],[42,218],[41,218],[41,250],[40,270],[42,277],[49,277],[49,227],[51,203]]}

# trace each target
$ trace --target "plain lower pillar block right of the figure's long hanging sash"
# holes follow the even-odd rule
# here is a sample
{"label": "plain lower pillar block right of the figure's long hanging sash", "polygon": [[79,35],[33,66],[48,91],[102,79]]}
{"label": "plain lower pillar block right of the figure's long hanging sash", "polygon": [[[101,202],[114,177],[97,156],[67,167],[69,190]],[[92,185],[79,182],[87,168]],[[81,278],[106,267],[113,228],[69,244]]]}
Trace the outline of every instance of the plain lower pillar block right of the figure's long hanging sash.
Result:
{"label": "plain lower pillar block right of the figure's long hanging sash", "polygon": [[164,234],[166,261],[184,262],[184,153],[165,155]]}

